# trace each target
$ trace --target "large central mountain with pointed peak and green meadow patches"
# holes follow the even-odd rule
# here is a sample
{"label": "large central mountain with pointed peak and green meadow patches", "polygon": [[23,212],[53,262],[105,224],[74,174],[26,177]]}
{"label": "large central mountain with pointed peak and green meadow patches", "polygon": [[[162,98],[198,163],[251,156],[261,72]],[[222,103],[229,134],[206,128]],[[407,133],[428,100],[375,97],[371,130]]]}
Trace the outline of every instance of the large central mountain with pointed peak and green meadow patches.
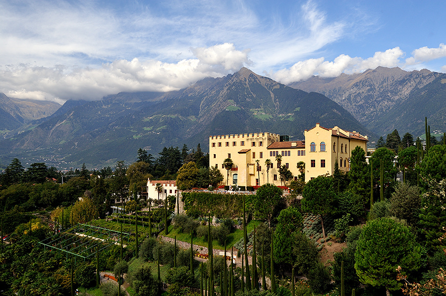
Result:
{"label": "large central mountain with pointed peak and green meadow patches", "polygon": [[0,155],[6,163],[20,155],[59,169],[83,163],[102,168],[118,160],[134,162],[138,148],[157,156],[165,146],[200,143],[206,151],[210,135],[270,131],[299,140],[316,123],[376,137],[325,95],[282,85],[246,68],[178,91],[68,100],[33,123],[5,134]]}

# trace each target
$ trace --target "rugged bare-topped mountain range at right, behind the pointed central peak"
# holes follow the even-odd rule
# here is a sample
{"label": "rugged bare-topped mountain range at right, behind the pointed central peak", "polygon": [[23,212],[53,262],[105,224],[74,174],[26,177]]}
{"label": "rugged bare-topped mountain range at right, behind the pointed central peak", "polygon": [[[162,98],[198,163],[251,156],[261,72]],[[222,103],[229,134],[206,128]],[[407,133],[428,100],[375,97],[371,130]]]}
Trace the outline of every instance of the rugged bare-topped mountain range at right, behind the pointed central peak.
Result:
{"label": "rugged bare-topped mountain range at right, behind the pointed central peak", "polygon": [[314,76],[289,86],[326,95],[384,138],[394,129],[400,135],[424,134],[425,117],[431,131],[446,130],[444,73],[378,67],[335,78]]}

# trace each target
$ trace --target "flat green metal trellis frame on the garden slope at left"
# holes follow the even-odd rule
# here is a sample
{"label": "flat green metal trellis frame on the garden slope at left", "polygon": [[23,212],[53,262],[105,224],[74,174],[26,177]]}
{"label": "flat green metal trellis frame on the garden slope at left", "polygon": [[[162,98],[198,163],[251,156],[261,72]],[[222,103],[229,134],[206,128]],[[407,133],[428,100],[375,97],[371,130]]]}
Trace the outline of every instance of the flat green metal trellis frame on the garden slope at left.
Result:
{"label": "flat green metal trellis frame on the garden slope at left", "polygon": [[[126,240],[127,244],[130,239],[130,233],[122,232],[122,241]],[[44,248],[51,248],[68,255],[83,258],[84,260],[96,254],[96,246],[100,245],[99,251],[102,251],[111,245],[120,246],[120,232],[96,227],[87,224],[77,224],[49,237],[39,244]],[[126,245],[123,245],[125,248]]]}

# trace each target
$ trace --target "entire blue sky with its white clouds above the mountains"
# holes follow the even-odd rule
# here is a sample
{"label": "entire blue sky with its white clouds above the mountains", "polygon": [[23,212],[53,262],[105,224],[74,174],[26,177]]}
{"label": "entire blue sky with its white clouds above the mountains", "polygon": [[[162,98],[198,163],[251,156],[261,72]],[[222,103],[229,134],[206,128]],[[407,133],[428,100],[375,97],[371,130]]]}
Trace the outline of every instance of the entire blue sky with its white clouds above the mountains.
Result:
{"label": "entire blue sky with its white clouds above the mountains", "polygon": [[378,66],[446,72],[446,2],[0,1],[0,92],[100,99],[245,66],[284,84]]}

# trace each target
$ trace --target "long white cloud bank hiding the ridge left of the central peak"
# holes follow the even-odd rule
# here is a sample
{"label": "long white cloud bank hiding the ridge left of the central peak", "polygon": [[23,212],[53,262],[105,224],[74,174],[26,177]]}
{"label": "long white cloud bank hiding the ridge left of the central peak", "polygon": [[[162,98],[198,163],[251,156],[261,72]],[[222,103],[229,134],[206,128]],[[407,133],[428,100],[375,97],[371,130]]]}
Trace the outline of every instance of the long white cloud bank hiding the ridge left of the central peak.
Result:
{"label": "long white cloud bank hiding the ridge left of the central peak", "polygon": [[116,60],[100,68],[67,71],[63,66],[35,67],[27,64],[0,70],[5,94],[17,98],[63,101],[100,99],[120,91],[169,91],[206,77],[221,77],[249,65],[249,50],[231,43],[193,48],[196,58],[176,63],[158,60]]}

